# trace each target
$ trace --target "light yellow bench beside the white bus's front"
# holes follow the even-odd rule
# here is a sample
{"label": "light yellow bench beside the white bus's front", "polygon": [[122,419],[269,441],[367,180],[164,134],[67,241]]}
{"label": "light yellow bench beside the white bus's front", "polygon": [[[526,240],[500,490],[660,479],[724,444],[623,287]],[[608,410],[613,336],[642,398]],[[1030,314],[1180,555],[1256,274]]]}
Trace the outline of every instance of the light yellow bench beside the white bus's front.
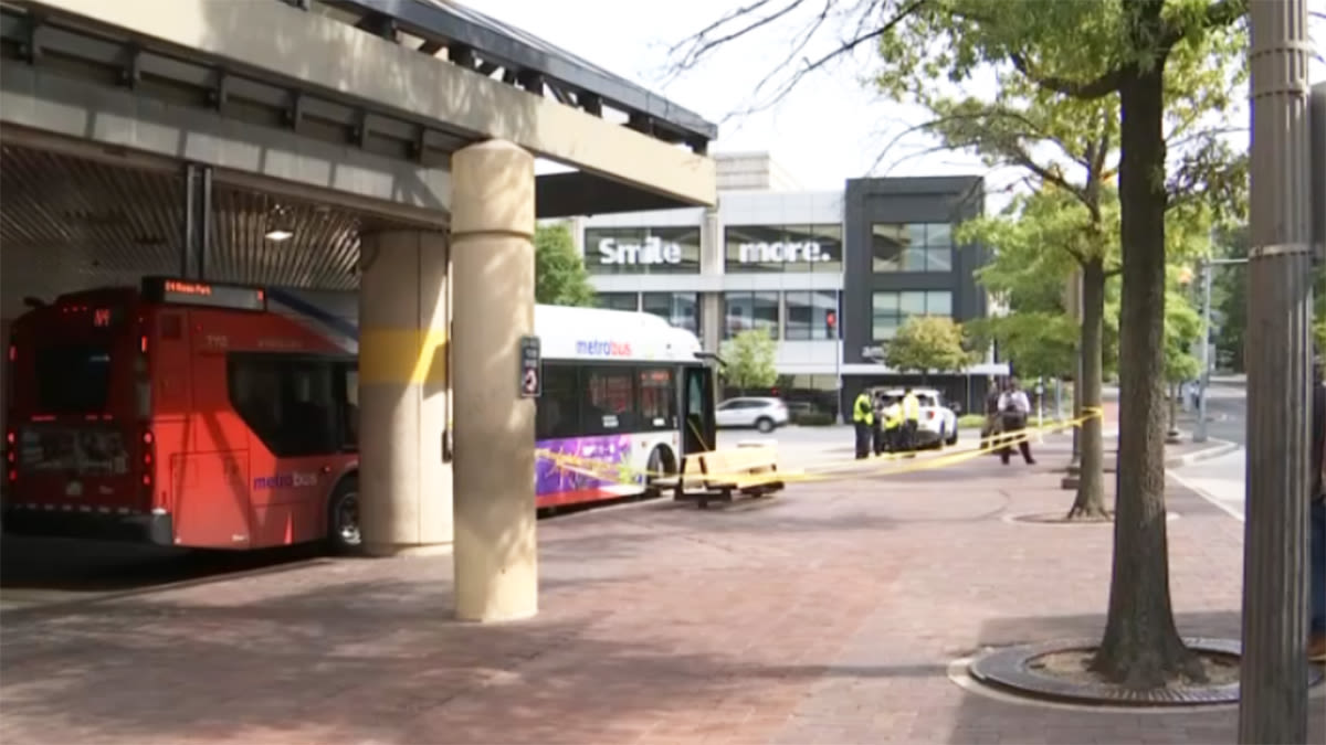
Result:
{"label": "light yellow bench beside the white bus's front", "polygon": [[739,447],[683,456],[678,476],[655,479],[654,484],[671,487],[675,500],[696,500],[705,509],[715,497],[731,502],[733,492],[752,497],[772,494],[784,488],[784,483],[773,476],[777,473],[777,448]]}

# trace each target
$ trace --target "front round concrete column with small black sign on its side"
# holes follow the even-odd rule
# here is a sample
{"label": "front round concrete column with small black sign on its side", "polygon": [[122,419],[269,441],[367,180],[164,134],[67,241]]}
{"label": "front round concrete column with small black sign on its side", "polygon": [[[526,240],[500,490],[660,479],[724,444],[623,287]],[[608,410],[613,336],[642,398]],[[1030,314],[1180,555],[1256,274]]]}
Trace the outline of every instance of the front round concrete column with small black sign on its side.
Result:
{"label": "front round concrete column with small black sign on its side", "polygon": [[456,366],[456,616],[538,612],[534,400],[520,337],[534,333],[534,158],[501,141],[451,159]]}

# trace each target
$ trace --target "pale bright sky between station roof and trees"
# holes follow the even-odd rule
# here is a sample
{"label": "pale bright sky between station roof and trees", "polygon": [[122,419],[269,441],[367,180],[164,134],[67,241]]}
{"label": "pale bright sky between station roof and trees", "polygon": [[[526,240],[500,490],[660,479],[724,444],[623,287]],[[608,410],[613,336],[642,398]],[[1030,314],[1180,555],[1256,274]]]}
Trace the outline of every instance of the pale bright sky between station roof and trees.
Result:
{"label": "pale bright sky between station roof and trees", "polygon": [[[922,135],[896,135],[926,121],[923,110],[883,99],[863,82],[874,60],[869,49],[802,78],[778,105],[744,113],[764,98],[752,91],[792,48],[800,20],[770,24],[725,45],[707,62],[668,80],[668,48],[690,37],[728,9],[735,0],[468,0],[475,9],[509,23],[667,97],[719,125],[711,151],[768,151],[806,190],[841,190],[843,179],[863,175],[987,174],[997,191],[1000,174],[988,174],[975,156],[926,152]],[[1012,1],[1012,0],[1010,0]],[[751,4],[740,0],[740,5]],[[1326,15],[1326,0],[1307,0],[1309,11]],[[806,3],[806,5],[812,5]],[[819,7],[819,3],[814,3]],[[835,44],[842,23],[826,25],[806,48],[810,58]],[[1326,40],[1326,23],[1314,23]],[[869,46],[869,45],[867,45]],[[1318,44],[1326,49],[1326,42]],[[1314,61],[1313,82],[1326,80],[1326,65]],[[979,84],[977,84],[979,85]],[[733,115],[736,114],[736,115]],[[1244,115],[1246,117],[1246,115]],[[1244,118],[1246,122],[1246,118]],[[1246,146],[1246,137],[1241,142]],[[888,146],[888,147],[886,147]],[[541,168],[542,170],[542,168]],[[1002,176],[1009,182],[1012,176]]]}

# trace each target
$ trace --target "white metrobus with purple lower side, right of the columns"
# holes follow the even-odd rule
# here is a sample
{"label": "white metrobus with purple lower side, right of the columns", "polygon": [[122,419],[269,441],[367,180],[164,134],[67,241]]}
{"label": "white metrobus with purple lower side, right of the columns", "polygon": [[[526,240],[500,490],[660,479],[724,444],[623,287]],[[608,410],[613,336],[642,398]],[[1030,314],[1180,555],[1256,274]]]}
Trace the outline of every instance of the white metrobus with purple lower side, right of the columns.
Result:
{"label": "white metrobus with purple lower side, right of the columns", "polygon": [[[269,310],[358,353],[354,294],[269,289],[268,298]],[[647,313],[537,305],[534,333],[534,447],[546,453],[534,467],[538,508],[651,493],[648,473],[675,473],[683,455],[713,449],[713,371],[691,331]]]}

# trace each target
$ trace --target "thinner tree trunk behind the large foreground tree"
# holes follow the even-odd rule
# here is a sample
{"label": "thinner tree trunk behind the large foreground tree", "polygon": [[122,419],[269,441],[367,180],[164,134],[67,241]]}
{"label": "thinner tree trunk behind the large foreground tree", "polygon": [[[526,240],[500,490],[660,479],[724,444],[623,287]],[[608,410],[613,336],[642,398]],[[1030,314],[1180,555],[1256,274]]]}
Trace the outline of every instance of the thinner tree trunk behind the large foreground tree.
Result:
{"label": "thinner tree trunk behind the large foreground tree", "polygon": [[[1079,350],[1082,371],[1078,380],[1081,399],[1079,416],[1101,408],[1101,346],[1105,339],[1105,260],[1094,258],[1082,265],[1082,345]],[[1093,416],[1078,431],[1078,492],[1069,509],[1069,520],[1099,520],[1109,517],[1105,506],[1105,436],[1103,422]]]}

